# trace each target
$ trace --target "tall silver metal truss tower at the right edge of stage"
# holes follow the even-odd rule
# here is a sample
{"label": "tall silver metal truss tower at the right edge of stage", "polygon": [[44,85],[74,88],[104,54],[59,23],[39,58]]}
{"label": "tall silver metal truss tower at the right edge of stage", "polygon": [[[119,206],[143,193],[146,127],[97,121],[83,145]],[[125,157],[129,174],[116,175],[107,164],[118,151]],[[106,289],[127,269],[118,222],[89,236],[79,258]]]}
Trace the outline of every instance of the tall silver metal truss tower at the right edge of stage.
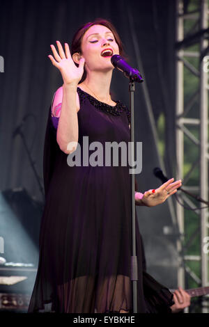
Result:
{"label": "tall silver metal truss tower at the right edge of stage", "polygon": [[[189,12],[184,8],[184,3],[188,10],[191,9],[191,5],[194,6],[194,10]],[[194,196],[200,196],[206,202],[208,201],[209,159],[208,16],[208,0],[176,0],[176,178],[183,179],[183,189]],[[185,76],[187,76],[187,85],[185,85]],[[191,86],[188,83],[191,83]],[[186,94],[185,90],[187,90]],[[185,158],[188,156],[192,159],[190,163],[187,162],[189,167],[187,172],[184,172]],[[209,285],[208,206],[197,202],[187,193],[180,193],[178,198],[185,207],[194,210],[188,221],[188,218],[185,218],[188,209],[179,202],[176,204],[178,228],[181,234],[177,244],[180,258],[178,285],[185,287],[186,281],[192,278],[199,286],[206,287]],[[196,210],[196,207],[204,209]],[[196,229],[188,238],[185,233],[187,224],[191,224],[192,219],[196,220]],[[192,244],[196,237],[200,239],[199,253],[192,253]],[[200,276],[191,269],[191,262],[199,262]],[[201,310],[208,312],[204,305]]]}

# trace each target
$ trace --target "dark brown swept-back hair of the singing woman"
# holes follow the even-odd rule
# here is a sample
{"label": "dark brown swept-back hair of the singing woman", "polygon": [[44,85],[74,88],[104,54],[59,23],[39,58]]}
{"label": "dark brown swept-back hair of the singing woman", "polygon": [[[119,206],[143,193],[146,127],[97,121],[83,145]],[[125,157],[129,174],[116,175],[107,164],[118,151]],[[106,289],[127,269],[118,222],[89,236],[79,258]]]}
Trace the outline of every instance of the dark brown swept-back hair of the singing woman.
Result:
{"label": "dark brown swept-back hair of the singing woman", "polygon": [[[110,31],[113,33],[114,38],[116,40],[116,43],[118,44],[119,54],[123,56],[123,58],[127,58],[125,51],[123,50],[123,43],[121,41],[120,36],[118,35],[118,32],[116,31],[116,28],[114,25],[109,22],[107,19],[103,18],[96,18],[93,22],[88,22],[86,24],[83,24],[75,33],[74,37],[72,38],[72,44],[71,44],[71,55],[75,53],[82,54],[82,38],[84,36],[84,33],[93,25],[103,25],[106,26]],[[78,66],[77,63],[75,65]],[[86,70],[84,68],[84,74],[82,76],[81,81],[79,83],[82,83],[86,79]]]}

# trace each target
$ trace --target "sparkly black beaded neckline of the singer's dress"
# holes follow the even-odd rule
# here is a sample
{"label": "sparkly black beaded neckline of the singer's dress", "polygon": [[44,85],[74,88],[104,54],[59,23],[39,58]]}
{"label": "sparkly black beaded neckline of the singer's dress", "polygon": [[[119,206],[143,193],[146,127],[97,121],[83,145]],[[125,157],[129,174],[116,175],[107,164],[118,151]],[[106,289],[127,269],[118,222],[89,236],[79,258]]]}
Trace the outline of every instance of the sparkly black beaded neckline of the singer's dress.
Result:
{"label": "sparkly black beaded neckline of the singer's dress", "polygon": [[77,87],[77,92],[79,94],[80,100],[84,103],[85,99],[88,99],[93,106],[95,106],[96,109],[100,111],[106,111],[107,113],[110,113],[111,115],[121,115],[123,111],[127,113],[128,117],[128,109],[127,107],[120,101],[116,101],[115,106],[111,106],[110,104],[106,104],[104,102],[100,102],[98,99],[90,95],[89,93],[86,93],[81,88]]}

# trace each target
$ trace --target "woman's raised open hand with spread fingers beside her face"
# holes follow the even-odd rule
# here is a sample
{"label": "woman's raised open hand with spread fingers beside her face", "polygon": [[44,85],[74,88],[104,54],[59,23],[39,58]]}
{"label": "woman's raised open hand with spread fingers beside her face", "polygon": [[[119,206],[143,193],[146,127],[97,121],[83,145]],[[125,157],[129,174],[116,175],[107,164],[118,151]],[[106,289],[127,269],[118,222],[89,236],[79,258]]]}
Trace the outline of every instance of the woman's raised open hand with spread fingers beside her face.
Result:
{"label": "woman's raised open hand with spread fingers beside her face", "polygon": [[56,45],[59,49],[59,54],[56,51],[54,45],[51,45],[54,57],[50,54],[48,57],[52,61],[52,65],[59,69],[63,77],[63,83],[65,85],[75,85],[79,83],[84,74],[85,59],[81,58],[79,61],[79,67],[77,67],[72,60],[68,43],[65,43],[65,51],[61,45],[61,42],[56,41]]}

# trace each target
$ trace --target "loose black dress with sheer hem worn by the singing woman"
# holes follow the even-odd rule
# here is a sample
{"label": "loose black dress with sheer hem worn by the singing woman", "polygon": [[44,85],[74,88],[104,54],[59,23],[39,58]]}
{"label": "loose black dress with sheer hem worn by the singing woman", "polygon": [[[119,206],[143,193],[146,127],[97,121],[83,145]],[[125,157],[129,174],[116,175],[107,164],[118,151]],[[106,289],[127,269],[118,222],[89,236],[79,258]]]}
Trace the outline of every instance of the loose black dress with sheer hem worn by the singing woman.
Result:
{"label": "loose black dress with sheer hem worn by the singing woman", "polygon": [[[79,87],[77,92],[79,155],[74,166],[75,157],[56,142],[59,118],[49,109],[40,257],[28,312],[132,312],[130,166],[122,163],[122,147],[118,164],[104,151],[108,142],[128,147],[130,111],[120,101],[109,106]],[[104,159],[111,164],[105,166]],[[171,312],[173,294],[146,273],[138,223],[136,230],[138,312]]]}

